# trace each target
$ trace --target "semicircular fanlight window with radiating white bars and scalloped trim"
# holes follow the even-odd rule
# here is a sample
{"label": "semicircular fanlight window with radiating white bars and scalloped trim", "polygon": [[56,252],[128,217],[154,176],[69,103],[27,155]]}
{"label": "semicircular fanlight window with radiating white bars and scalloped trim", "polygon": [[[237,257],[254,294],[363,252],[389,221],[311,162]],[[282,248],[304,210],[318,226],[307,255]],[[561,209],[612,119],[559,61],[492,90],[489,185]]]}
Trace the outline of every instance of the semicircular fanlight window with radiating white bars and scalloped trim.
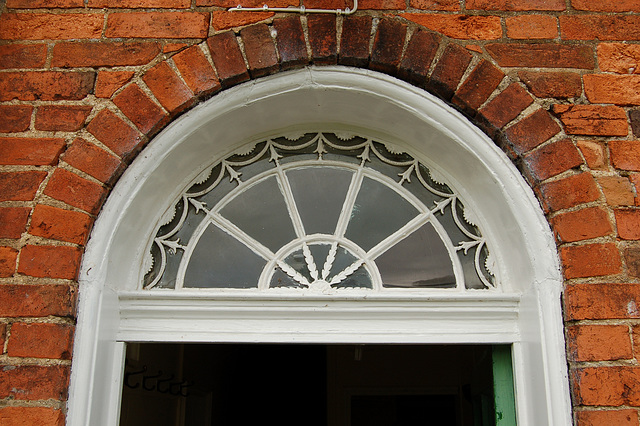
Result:
{"label": "semicircular fanlight window with radiating white bars and scalloped trim", "polygon": [[165,213],[144,289],[492,289],[460,196],[389,143],[305,133],[247,145]]}

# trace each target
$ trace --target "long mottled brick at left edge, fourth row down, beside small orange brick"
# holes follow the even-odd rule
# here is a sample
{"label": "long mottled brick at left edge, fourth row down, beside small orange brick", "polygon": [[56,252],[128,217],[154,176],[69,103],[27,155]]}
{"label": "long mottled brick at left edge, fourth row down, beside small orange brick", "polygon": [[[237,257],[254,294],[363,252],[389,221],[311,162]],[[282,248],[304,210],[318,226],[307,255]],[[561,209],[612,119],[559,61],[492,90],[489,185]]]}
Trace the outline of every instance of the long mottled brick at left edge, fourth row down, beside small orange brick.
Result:
{"label": "long mottled brick at left edge, fourth row down, beside small orange brick", "polygon": [[92,92],[92,72],[24,71],[0,74],[0,101],[80,100]]}

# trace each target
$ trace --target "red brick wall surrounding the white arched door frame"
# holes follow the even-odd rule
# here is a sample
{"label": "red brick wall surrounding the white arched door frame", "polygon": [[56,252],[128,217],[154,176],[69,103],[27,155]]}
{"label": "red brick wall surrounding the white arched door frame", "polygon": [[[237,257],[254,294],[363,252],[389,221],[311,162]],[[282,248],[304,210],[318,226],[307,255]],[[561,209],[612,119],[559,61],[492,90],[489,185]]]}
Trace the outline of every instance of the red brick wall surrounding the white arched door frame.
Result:
{"label": "red brick wall surrounding the white arched door frame", "polygon": [[220,90],[337,63],[425,88],[513,159],[557,236],[575,421],[638,425],[640,2],[360,0],[338,19],[236,3],[6,0],[0,423],[64,424],[83,247],[149,139]]}

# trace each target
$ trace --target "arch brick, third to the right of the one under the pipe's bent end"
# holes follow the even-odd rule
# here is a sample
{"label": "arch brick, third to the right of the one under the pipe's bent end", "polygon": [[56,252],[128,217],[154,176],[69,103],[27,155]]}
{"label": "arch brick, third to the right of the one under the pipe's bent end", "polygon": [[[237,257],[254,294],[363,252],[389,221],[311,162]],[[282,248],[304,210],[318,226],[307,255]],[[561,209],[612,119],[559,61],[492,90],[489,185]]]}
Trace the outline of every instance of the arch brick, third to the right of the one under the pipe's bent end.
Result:
{"label": "arch brick, third to the right of the one under the pipe's bent end", "polygon": [[429,86],[444,100],[451,99],[470,63],[471,54],[465,48],[449,44],[433,69]]}

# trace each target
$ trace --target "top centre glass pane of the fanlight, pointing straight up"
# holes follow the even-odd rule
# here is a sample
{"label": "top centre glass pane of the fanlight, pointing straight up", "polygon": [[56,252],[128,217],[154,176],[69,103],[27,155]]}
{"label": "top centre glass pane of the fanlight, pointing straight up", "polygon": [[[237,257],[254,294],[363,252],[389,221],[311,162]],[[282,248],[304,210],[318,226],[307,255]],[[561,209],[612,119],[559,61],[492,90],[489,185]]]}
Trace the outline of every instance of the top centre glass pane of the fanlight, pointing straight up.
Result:
{"label": "top centre glass pane of the fanlight, pointing straight up", "polygon": [[348,170],[328,167],[287,172],[307,235],[335,232],[352,175]]}

